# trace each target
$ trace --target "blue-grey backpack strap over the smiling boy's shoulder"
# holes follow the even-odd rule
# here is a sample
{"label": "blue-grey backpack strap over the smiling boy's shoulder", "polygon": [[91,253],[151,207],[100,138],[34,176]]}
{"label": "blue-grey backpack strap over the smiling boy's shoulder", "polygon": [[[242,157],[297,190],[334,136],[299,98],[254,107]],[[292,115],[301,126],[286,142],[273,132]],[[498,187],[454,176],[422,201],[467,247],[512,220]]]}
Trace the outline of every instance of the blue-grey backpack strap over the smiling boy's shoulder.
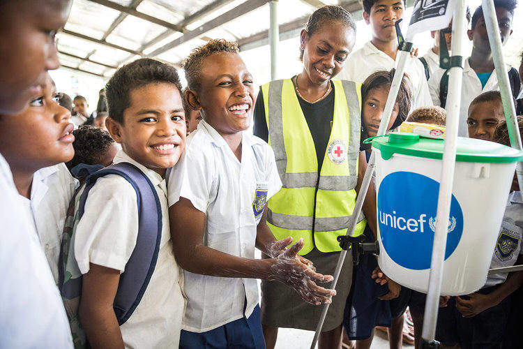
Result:
{"label": "blue-grey backpack strap over the smiling boy's shoulder", "polygon": [[135,249],[120,275],[114,313],[118,324],[125,323],[142,300],[158,260],[162,238],[162,209],[156,189],[151,180],[130,163],[116,163],[94,172],[86,179],[85,190],[79,200],[79,215],[82,217],[87,195],[96,180],[107,174],[118,174],[126,179],[136,191],[138,204],[138,236]]}

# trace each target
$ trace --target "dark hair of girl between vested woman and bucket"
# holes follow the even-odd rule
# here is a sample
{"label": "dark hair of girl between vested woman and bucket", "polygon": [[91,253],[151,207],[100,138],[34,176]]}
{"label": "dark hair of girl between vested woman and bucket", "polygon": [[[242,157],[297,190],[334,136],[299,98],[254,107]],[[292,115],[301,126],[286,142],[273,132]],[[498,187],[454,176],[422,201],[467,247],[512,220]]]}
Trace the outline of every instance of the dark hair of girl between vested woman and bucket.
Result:
{"label": "dark hair of girl between vested woman and bucket", "polygon": [[[372,89],[386,88],[390,89],[392,80],[394,78],[395,69],[391,71],[379,70],[375,73],[372,73],[365,79],[365,82],[361,85],[361,103],[365,103],[365,98],[367,94]],[[402,82],[400,84],[400,90],[397,92],[396,103],[397,103],[397,117],[394,121],[394,124],[391,128],[396,128],[407,119],[409,110],[411,109],[411,83],[409,82],[409,77],[404,75],[402,77]],[[362,115],[363,117],[363,115]]]}

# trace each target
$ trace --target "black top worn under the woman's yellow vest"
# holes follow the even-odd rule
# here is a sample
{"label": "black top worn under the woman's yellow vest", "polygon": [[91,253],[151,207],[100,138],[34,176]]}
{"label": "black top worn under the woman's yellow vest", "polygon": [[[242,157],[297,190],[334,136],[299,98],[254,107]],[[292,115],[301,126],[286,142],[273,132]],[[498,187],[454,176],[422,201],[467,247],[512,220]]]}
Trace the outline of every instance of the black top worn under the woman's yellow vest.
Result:
{"label": "black top worn under the woman's yellow vest", "polygon": [[[316,157],[318,159],[318,172],[324,162],[325,152],[327,150],[328,139],[331,137],[331,127],[334,115],[334,86],[331,82],[331,92],[319,102],[309,103],[296,94],[300,103],[301,111],[309,126],[310,135],[316,148]],[[295,92],[296,93],[296,92]],[[264,95],[259,90],[256,99],[254,114],[254,134],[268,142],[268,127],[265,119]]]}

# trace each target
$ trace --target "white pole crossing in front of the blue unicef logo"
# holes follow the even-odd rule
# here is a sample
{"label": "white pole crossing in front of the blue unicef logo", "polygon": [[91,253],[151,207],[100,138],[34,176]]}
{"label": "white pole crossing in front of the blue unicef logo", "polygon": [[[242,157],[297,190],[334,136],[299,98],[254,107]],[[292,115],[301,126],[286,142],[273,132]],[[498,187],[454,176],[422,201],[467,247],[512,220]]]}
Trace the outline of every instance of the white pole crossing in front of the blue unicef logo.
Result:
{"label": "white pole crossing in front of the blue unicef logo", "polygon": [[[451,52],[453,56],[464,55],[463,40],[465,37],[465,1],[458,0],[454,10]],[[465,58],[465,57],[464,57]],[[460,119],[460,102],[462,89],[463,69],[453,67],[449,70],[448,98],[446,103],[446,130],[441,167],[441,181],[439,184],[438,205],[436,214],[436,231],[432,245],[432,260],[430,262],[430,276],[423,317],[422,338],[427,342],[434,341],[436,333],[439,295],[444,272],[444,257],[447,244],[448,216],[454,181],[456,160],[457,126]]]}

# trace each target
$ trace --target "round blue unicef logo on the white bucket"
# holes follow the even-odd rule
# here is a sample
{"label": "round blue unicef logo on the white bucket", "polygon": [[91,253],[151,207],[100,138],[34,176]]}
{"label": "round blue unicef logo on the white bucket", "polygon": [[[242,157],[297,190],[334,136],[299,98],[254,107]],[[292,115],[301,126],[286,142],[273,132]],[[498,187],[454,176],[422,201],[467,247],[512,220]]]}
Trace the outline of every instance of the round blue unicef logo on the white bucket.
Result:
{"label": "round blue unicef logo on the white bucket", "polygon": [[[385,251],[398,265],[429,269],[436,230],[439,183],[413,172],[393,172],[379,185],[378,225]],[[447,259],[460,243],[463,213],[454,195],[448,221]]]}

